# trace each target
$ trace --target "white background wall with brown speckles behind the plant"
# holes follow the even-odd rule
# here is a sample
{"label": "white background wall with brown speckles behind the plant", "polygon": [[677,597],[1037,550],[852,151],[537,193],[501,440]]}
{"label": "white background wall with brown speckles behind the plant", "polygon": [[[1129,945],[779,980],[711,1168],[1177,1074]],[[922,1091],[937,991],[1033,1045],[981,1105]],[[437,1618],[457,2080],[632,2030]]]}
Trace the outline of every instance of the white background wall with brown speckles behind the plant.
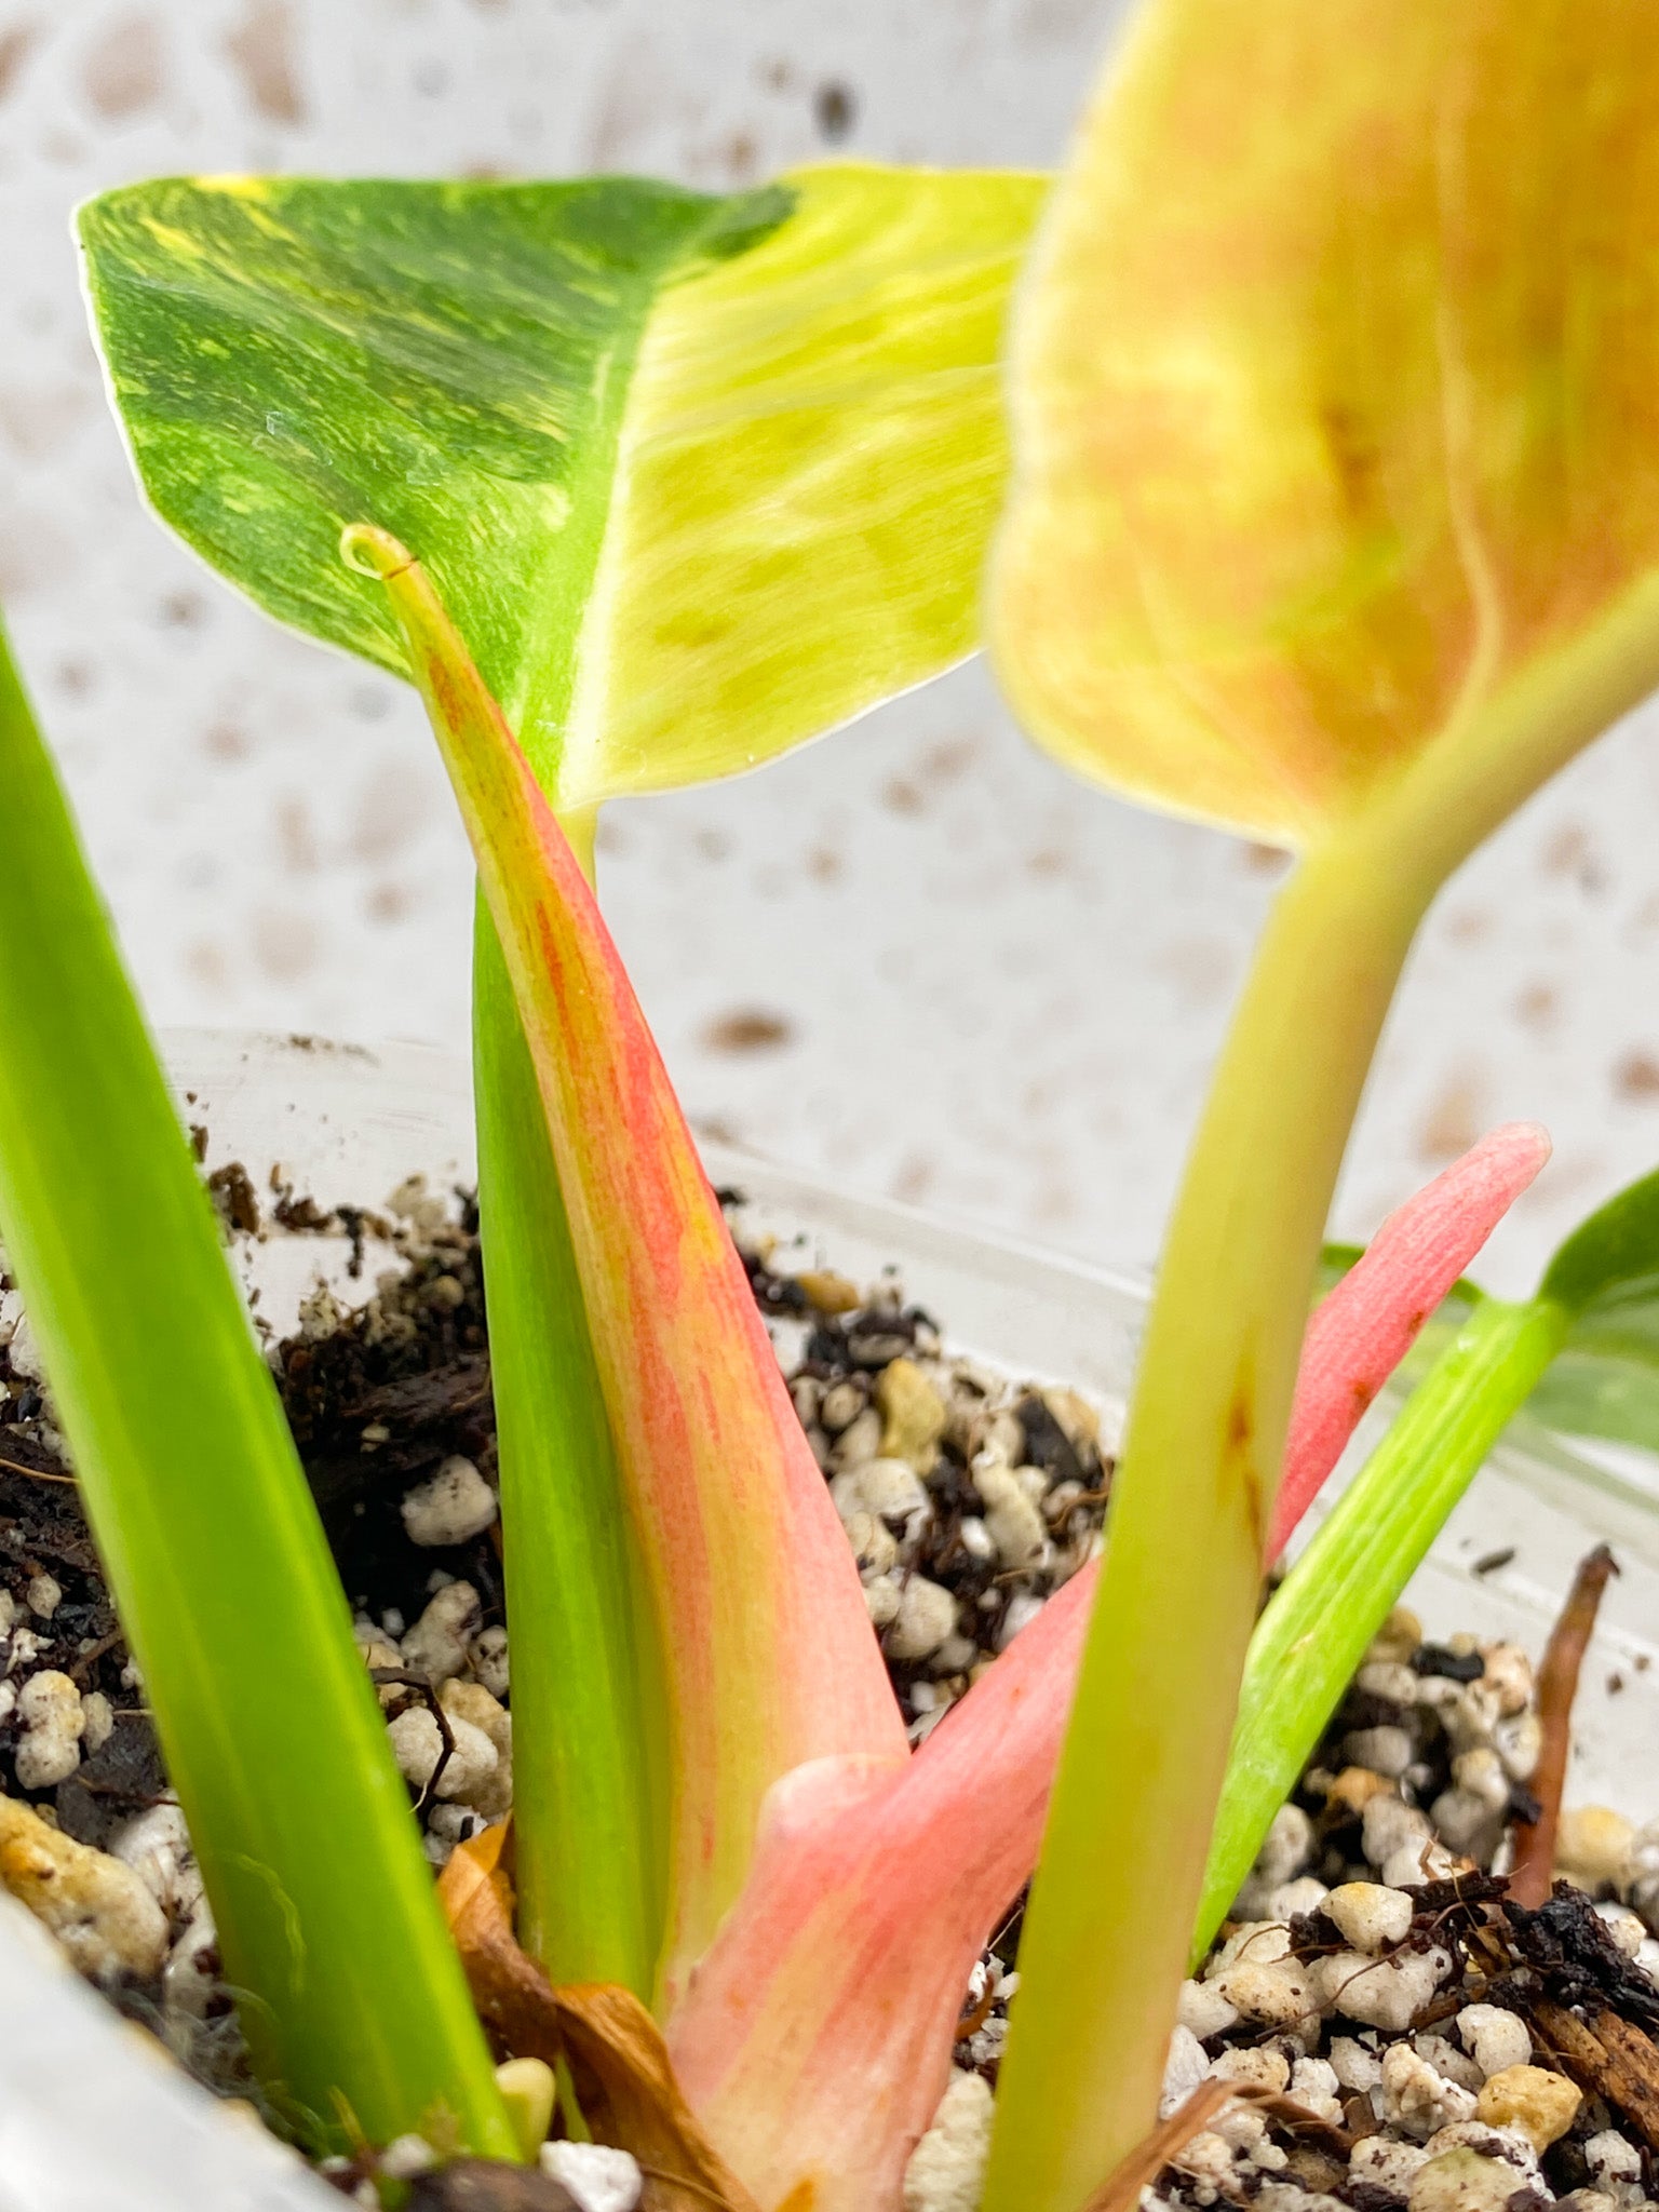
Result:
{"label": "white background wall with brown speckles behind the plant", "polygon": [[[411,697],[139,511],[69,210],[159,170],[1048,164],[1108,0],[0,0],[0,597],[159,1022],[462,1044],[469,867]],[[1338,1225],[1480,1126],[1557,1159],[1517,1283],[1659,1159],[1659,757],[1632,719],[1451,887]],[[0,865],[4,865],[0,794]],[[1031,752],[967,668],[613,810],[604,898],[703,1126],[1104,1259],[1155,1250],[1276,863]]]}

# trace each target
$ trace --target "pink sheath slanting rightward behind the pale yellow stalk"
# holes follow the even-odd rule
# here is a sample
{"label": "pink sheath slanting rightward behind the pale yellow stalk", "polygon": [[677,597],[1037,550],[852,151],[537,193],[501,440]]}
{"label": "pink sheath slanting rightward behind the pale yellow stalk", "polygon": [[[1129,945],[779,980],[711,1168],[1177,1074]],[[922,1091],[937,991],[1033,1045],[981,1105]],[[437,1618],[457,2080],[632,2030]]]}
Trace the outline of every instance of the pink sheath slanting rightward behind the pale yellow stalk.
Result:
{"label": "pink sheath slanting rightward behind the pale yellow stalk", "polygon": [[[1296,1513],[1422,1316],[1546,1157],[1535,1124],[1493,1130],[1389,1217],[1321,1305],[1296,1385]],[[1363,1511],[1332,1515],[1334,1542],[1354,1548],[1356,1566],[1380,1568],[1369,1597],[1383,1610],[1416,1564],[1411,1544],[1427,1542],[1444,1513],[1425,1526],[1420,1511],[1407,1511],[1422,1489],[1420,1462],[1394,1460]],[[1383,1559],[1396,1526],[1405,1533]],[[1270,1540],[1267,1564],[1287,1535],[1290,1526]],[[768,1798],[743,1896],[668,2022],[688,2099],[763,2205],[792,2190],[807,2190],[814,2212],[896,2201],[945,2088],[969,1971],[1037,1860],[1097,1575],[1086,1566],[1046,1601],[909,1765],[823,1761]],[[1352,1666],[1340,1681],[1349,1674]],[[1287,1732],[1274,1703],[1283,1681],[1281,1655],[1265,1670],[1252,1741],[1237,1754],[1250,1783],[1254,1734],[1276,1747]],[[1305,1705],[1290,1730],[1305,1723]],[[1230,1843],[1245,1867],[1283,1790],[1265,1816],[1261,1790],[1243,1794]]]}

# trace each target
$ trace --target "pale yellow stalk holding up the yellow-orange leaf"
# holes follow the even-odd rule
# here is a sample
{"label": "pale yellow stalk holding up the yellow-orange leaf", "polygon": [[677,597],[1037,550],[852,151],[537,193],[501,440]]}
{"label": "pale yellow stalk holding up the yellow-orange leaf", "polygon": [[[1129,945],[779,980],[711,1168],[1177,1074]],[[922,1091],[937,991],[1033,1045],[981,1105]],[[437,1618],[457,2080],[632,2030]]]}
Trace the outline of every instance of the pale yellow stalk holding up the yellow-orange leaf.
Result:
{"label": "pale yellow stalk holding up the yellow-orange leaf", "polygon": [[1365,827],[1285,885],[1188,1161],[1020,1944],[987,2212],[1071,2212],[1157,2110],[1325,1208],[1427,905]]}

